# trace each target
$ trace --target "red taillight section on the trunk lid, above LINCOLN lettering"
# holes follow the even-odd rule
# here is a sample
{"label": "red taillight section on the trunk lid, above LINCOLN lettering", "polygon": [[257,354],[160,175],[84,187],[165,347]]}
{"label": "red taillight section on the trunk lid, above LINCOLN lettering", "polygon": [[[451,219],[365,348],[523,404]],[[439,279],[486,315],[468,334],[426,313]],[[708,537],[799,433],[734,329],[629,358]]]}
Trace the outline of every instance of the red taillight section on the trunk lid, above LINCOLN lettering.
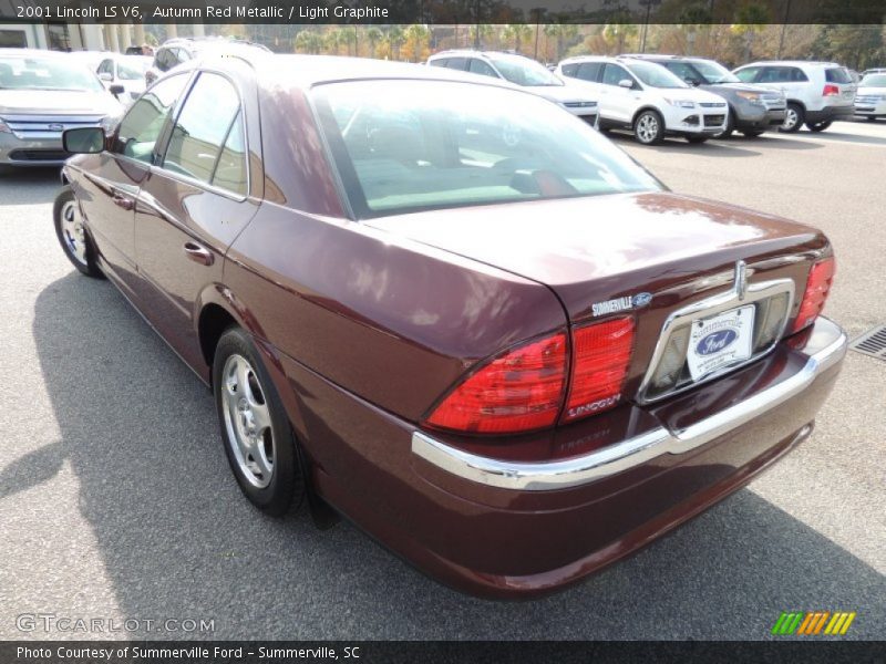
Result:
{"label": "red taillight section on the trunk lid, above LINCOLN lettering", "polygon": [[563,422],[618,404],[633,350],[633,319],[621,318],[573,332],[573,376]]}

